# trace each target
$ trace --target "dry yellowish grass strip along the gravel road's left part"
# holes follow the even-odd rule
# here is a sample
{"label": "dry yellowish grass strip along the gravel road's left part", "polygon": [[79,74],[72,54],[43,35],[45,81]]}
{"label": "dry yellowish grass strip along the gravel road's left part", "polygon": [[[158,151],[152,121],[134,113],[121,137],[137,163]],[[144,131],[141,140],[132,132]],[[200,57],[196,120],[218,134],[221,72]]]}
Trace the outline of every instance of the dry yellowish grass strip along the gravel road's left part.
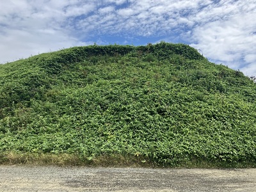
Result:
{"label": "dry yellowish grass strip along the gravel road's left part", "polygon": [[57,166],[116,166],[116,167],[156,167],[157,164],[145,161],[136,156],[122,156],[120,154],[99,157],[81,157],[74,154],[38,154],[6,152],[0,154],[0,164],[4,165],[57,165]]}

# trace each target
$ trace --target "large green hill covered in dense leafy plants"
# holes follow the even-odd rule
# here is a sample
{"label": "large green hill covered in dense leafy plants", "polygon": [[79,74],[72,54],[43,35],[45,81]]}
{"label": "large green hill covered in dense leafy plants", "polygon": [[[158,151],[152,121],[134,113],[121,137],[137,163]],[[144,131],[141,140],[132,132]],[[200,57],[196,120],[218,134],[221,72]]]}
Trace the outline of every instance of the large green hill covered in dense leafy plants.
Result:
{"label": "large green hill covered in dense leafy plants", "polygon": [[183,44],[0,65],[0,164],[255,166],[256,85]]}

